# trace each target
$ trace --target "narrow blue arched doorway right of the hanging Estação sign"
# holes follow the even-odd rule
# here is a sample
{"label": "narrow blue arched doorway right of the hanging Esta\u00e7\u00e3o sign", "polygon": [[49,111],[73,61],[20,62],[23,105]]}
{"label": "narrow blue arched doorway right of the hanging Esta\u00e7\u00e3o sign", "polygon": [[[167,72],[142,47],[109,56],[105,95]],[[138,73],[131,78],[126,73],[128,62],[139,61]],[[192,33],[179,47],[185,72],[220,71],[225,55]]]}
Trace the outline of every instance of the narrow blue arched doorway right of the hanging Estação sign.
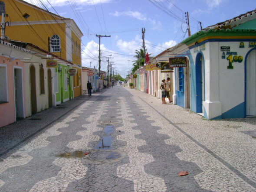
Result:
{"label": "narrow blue arched doorway right of the hanging Esta\u00e7\u00e3o sign", "polygon": [[197,54],[196,57],[196,113],[203,113],[204,101],[204,67],[203,55]]}

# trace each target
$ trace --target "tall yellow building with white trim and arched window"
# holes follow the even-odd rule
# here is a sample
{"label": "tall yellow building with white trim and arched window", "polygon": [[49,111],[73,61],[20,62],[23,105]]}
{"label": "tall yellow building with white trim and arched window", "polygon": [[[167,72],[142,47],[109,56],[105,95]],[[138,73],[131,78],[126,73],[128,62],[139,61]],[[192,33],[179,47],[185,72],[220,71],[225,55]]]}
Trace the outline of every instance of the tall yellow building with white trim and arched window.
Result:
{"label": "tall yellow building with white trim and arched window", "polygon": [[[74,20],[51,13],[23,0],[0,0],[0,13],[6,13],[7,39],[29,42],[72,62],[78,69],[72,81],[73,97],[81,94],[81,30]],[[1,16],[0,16],[1,17]],[[65,65],[59,63],[59,65]],[[80,71],[80,72],[79,72]],[[80,76],[79,76],[80,74]]]}

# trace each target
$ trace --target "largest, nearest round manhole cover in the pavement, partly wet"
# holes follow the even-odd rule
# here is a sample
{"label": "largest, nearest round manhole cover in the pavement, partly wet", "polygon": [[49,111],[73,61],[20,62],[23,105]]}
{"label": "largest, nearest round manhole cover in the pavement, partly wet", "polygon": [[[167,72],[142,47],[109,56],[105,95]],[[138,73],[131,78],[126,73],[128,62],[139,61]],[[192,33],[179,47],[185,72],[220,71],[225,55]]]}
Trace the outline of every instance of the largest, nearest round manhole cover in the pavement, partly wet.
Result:
{"label": "largest, nearest round manhole cover in the pavement, partly wet", "polygon": [[118,162],[126,156],[126,153],[118,150],[93,150],[83,159],[86,163],[101,164]]}

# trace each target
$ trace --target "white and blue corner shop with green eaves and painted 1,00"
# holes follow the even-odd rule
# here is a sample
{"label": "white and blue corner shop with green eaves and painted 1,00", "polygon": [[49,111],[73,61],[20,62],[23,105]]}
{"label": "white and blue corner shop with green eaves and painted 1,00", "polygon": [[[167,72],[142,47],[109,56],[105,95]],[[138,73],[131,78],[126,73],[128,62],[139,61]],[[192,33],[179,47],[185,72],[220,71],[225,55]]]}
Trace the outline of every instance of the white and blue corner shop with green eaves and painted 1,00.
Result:
{"label": "white and blue corner shop with green eaves and painted 1,00", "polygon": [[256,116],[256,10],[209,26],[167,49],[187,59],[174,68],[174,104],[206,119]]}

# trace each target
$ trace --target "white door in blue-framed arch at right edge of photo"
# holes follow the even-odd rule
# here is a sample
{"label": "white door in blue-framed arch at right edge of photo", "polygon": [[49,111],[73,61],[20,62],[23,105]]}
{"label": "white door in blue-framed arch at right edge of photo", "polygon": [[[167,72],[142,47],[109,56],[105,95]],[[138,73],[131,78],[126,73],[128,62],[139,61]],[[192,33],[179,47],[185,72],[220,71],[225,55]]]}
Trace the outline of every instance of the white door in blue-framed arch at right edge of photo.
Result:
{"label": "white door in blue-framed arch at right edge of photo", "polygon": [[256,116],[256,50],[246,62],[246,116]]}

